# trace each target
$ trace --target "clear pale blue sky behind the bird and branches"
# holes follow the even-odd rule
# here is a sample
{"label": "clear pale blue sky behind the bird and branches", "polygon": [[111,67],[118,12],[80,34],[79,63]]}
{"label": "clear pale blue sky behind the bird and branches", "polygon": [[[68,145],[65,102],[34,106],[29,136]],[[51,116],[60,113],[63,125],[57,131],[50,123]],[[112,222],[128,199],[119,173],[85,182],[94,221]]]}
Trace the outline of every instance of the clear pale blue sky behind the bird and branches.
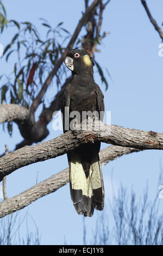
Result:
{"label": "clear pale blue sky behind the bird and branches", "polygon": [[[75,0],[46,0],[46,2],[5,0],[4,4],[8,19],[30,21],[42,35],[45,30],[40,26],[40,17],[47,19],[54,27],[64,21],[64,27],[73,33],[84,10],[82,0],[78,1],[78,4]],[[150,0],[147,4],[154,19],[161,26],[163,2]],[[111,124],[162,132],[163,57],[158,55],[161,39],[149,22],[141,2],[111,1],[104,12],[102,31],[110,34],[98,46],[101,52],[96,53],[96,60],[103,70],[106,68],[109,70],[112,81],[106,75],[109,82],[107,91],[96,72],[95,81],[103,90],[106,111],[111,111]],[[15,30],[11,28],[5,31],[1,35],[0,43],[7,45],[13,33]],[[9,63],[6,64],[5,60],[0,58],[1,74],[9,74],[15,61],[16,59],[10,58]],[[52,95],[56,92],[57,88],[53,84],[47,95],[49,99],[52,99]],[[52,122],[48,124],[48,129],[50,134],[45,141],[62,133],[53,131]],[[8,133],[2,131],[1,127],[1,153],[4,151],[4,144],[8,144],[9,150],[12,150],[21,140],[16,125],[11,138]],[[102,144],[102,148],[107,146]],[[160,162],[163,165],[161,150],[146,150],[120,157],[103,167],[106,210],[108,199],[112,198],[111,174],[115,191],[122,182],[129,191],[133,186],[137,196],[143,195],[143,189],[148,181],[149,196],[152,199],[158,190]],[[7,177],[8,196],[12,197],[34,185],[37,172],[39,172],[38,180],[42,181],[66,167],[67,158],[64,155],[18,169]],[[163,199],[162,201],[160,199],[160,209],[163,209],[162,207]],[[36,200],[21,210],[19,216],[23,217],[27,210],[39,227],[42,244],[62,244],[64,237],[67,243],[74,245],[83,243],[83,217],[78,216],[73,208],[69,184],[55,193]],[[85,220],[89,241],[100,215],[101,212],[95,212],[92,218]],[[108,215],[110,216],[110,212]],[[29,223],[29,228],[34,230],[32,221]],[[25,234],[26,223],[21,228],[21,235]]]}

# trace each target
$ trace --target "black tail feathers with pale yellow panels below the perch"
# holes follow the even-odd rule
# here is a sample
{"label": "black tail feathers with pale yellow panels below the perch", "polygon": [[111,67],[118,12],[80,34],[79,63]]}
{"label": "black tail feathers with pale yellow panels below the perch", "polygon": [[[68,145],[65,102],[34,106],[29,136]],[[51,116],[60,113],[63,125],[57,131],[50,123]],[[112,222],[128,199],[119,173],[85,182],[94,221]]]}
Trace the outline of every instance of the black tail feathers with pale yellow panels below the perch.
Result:
{"label": "black tail feathers with pale yellow panels below the perch", "polygon": [[[71,153],[70,192],[74,208],[78,214],[91,217],[93,211],[103,210],[104,184],[97,153],[93,154],[90,163],[83,163],[77,151]],[[89,169],[90,168],[90,169]]]}

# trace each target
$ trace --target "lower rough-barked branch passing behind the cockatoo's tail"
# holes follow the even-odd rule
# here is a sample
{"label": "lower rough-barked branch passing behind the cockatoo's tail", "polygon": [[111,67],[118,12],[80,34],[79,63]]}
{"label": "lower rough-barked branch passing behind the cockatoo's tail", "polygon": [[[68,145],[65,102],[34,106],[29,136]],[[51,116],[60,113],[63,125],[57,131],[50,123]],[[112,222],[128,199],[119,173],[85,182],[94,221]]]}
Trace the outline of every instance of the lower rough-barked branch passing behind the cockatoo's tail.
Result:
{"label": "lower rough-barked branch passing behind the cockatoo's tail", "polygon": [[[99,153],[101,165],[104,166],[104,164],[116,159],[117,157],[137,151],[140,150],[113,145],[109,146],[108,148],[101,150]],[[57,191],[60,187],[66,185],[67,182],[69,182],[68,168],[29,188],[21,194],[0,203],[0,218],[8,214],[12,214],[17,210],[21,210],[35,200]]]}

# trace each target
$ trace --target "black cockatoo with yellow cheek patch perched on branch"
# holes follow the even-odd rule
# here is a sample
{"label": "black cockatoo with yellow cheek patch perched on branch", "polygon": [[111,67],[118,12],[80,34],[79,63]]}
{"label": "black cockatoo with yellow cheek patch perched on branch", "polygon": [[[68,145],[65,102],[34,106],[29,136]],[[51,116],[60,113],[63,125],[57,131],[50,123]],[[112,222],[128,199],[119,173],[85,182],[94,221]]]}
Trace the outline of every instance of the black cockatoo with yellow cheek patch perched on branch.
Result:
{"label": "black cockatoo with yellow cheek patch perched on branch", "polygon": [[[70,127],[73,114],[97,113],[103,119],[103,93],[93,79],[93,59],[84,50],[70,50],[65,65],[72,71],[72,80],[65,88],[62,102],[64,132]],[[99,114],[99,115],[98,115]],[[68,120],[68,126],[67,126]],[[67,154],[70,169],[70,192],[74,208],[78,214],[92,216],[94,209],[103,210],[104,184],[99,162],[100,142],[85,143]]]}

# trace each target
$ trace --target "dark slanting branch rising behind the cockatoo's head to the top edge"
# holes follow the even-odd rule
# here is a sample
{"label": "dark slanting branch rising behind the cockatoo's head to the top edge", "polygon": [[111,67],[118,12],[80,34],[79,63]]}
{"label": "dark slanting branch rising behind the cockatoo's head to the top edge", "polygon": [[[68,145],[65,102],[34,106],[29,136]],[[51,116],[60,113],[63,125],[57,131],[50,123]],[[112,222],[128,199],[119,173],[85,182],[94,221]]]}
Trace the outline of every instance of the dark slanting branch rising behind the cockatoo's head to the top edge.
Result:
{"label": "dark slanting branch rising behind the cockatoo's head to the top edge", "polygon": [[42,97],[45,95],[49,84],[51,83],[53,77],[57,74],[57,71],[60,68],[61,64],[64,62],[68,50],[70,50],[73,47],[74,42],[76,41],[76,39],[77,39],[77,37],[80,33],[80,30],[82,29],[82,27],[87,22],[87,19],[91,15],[93,9],[95,9],[96,6],[98,5],[98,2],[99,2],[99,0],[95,0],[95,1],[93,1],[93,3],[91,4],[90,7],[86,8],[85,13],[82,16],[82,19],[79,20],[78,26],[77,26],[76,30],[74,31],[74,33],[72,35],[72,38],[71,38],[70,42],[68,43],[68,45],[66,47],[65,52],[62,54],[62,56],[58,60],[57,64],[54,66],[54,69],[52,70],[52,72],[48,75],[48,77],[47,77],[45,83],[43,84],[39,94],[34,99],[34,101],[32,103],[32,106],[30,108],[32,113],[34,113],[36,111],[37,107],[41,103]]}

